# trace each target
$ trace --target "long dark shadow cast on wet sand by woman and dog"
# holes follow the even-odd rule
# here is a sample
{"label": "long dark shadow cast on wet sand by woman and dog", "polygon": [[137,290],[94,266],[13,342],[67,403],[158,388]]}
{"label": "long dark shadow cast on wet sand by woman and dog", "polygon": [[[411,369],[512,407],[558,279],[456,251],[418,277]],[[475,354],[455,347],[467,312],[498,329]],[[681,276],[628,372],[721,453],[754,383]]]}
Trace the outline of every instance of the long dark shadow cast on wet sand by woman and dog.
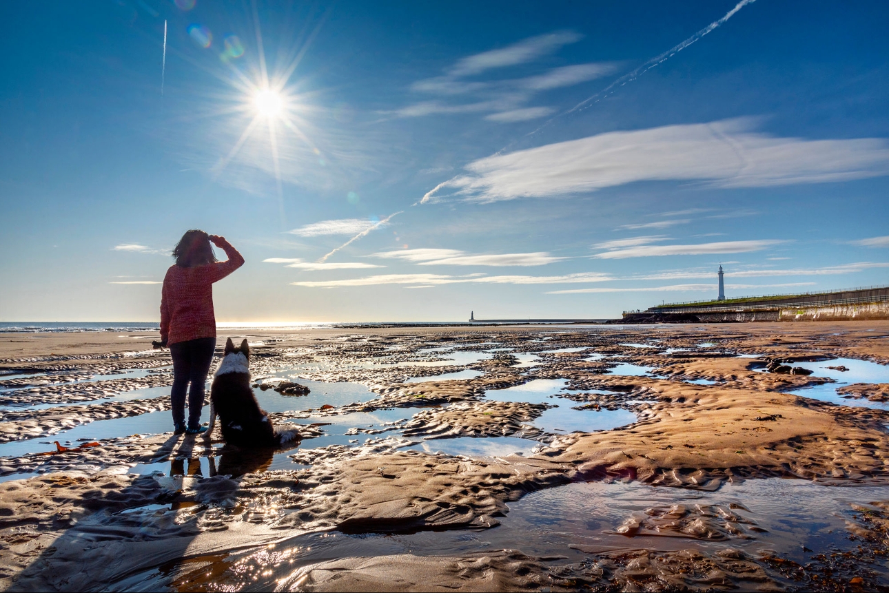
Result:
{"label": "long dark shadow cast on wet sand by woman and dog", "polygon": [[170,461],[169,476],[134,477],[123,488],[118,487],[123,477],[103,472],[68,481],[52,478],[60,489],[74,488],[68,499],[85,516],[55,540],[44,538],[39,556],[7,590],[126,589],[128,577],[164,565],[282,539],[284,533],[268,525],[238,521],[229,529],[231,520],[225,520],[235,507],[239,478],[268,469],[278,450],[227,445],[218,462],[203,455],[210,461],[204,477],[201,456],[195,454],[203,447],[210,444],[200,438],[172,437],[161,448]]}

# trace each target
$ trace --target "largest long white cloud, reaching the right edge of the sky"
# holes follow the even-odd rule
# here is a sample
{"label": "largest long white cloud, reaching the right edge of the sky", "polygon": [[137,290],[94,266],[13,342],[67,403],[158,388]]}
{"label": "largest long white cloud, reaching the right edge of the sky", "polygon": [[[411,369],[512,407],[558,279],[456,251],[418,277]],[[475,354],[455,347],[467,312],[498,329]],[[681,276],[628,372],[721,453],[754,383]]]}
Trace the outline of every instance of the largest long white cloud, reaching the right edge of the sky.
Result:
{"label": "largest long white cloud, reaching the right edge of the sky", "polygon": [[438,185],[421,203],[558,197],[645,180],[701,180],[762,188],[889,173],[885,139],[805,140],[752,132],[752,119],[606,132],[487,156]]}

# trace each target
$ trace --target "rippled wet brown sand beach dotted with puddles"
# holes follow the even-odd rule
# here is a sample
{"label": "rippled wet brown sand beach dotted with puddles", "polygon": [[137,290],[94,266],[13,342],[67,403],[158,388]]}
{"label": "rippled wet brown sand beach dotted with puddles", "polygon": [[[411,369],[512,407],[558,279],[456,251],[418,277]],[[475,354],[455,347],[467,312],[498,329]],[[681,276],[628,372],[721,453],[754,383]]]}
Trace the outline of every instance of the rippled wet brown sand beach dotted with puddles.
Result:
{"label": "rippled wet brown sand beach dotted with puddles", "polygon": [[[257,388],[313,386],[256,389],[302,440],[254,452],[127,430],[169,409],[154,337],[0,334],[0,587],[889,589],[887,322],[251,332]],[[873,375],[800,367],[834,359]],[[773,514],[776,479],[816,490]]]}

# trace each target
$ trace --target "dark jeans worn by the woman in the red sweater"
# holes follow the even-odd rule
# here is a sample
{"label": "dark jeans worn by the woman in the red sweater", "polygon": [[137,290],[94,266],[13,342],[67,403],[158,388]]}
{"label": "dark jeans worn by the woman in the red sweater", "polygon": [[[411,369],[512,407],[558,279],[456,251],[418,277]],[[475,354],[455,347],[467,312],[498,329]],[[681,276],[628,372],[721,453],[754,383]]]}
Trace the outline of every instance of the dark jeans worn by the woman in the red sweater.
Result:
{"label": "dark jeans worn by the woman in the red sweater", "polygon": [[170,344],[172,356],[172,421],[179,426],[185,423],[185,392],[188,383],[188,428],[201,426],[201,408],[204,407],[204,383],[210,372],[216,338],[198,338]]}

